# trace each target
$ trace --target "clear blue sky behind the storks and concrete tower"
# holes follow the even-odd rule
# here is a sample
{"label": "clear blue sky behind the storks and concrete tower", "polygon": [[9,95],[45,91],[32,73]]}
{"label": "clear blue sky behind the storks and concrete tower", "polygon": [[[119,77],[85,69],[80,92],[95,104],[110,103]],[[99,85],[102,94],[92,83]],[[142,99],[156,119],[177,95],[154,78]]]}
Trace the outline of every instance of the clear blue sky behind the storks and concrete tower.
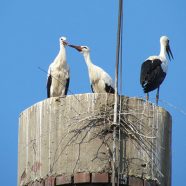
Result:
{"label": "clear blue sky behind the storks and concrete tower", "polygon": [[[114,78],[117,11],[117,0],[0,1],[1,185],[17,184],[19,114],[46,98],[46,74],[38,67],[48,69],[60,36],[89,46],[92,61]],[[186,170],[186,114],[180,111],[186,112],[186,1],[124,0],[124,95],[144,98],[140,66],[159,54],[162,35],[169,37],[175,60],[161,86],[160,105],[173,117],[172,185],[180,186]],[[68,48],[67,58],[71,92],[91,92],[82,55]],[[155,102],[155,94],[150,96]]]}

